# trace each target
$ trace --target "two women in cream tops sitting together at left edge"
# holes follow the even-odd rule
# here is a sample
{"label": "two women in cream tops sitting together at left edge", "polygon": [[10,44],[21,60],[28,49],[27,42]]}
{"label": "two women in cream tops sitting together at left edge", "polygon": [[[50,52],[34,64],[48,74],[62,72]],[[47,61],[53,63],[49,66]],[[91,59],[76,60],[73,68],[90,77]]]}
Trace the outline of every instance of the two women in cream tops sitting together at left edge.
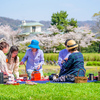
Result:
{"label": "two women in cream tops sitting together at left edge", "polygon": [[[12,46],[9,50],[9,44],[6,42],[0,43],[0,72],[11,76],[12,80],[14,80],[14,75],[16,78],[19,78],[19,57],[18,48],[16,46]],[[7,54],[6,54],[7,53]],[[5,55],[6,54],[6,55]]]}

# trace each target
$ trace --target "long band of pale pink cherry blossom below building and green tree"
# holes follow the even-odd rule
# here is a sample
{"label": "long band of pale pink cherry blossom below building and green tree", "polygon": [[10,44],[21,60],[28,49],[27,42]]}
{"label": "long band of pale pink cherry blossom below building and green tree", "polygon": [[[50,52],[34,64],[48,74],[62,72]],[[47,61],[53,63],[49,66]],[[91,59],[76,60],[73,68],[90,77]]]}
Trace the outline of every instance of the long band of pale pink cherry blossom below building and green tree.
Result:
{"label": "long band of pale pink cherry blossom below building and green tree", "polygon": [[48,51],[52,49],[54,46],[59,46],[60,44],[64,45],[66,39],[75,40],[79,45],[79,49],[80,47],[87,47],[88,45],[91,45],[91,41],[99,41],[95,38],[96,33],[92,33],[88,26],[77,28],[69,26],[67,28],[71,30],[73,29],[73,31],[65,34],[52,35],[53,32],[60,31],[57,30],[55,26],[51,26],[51,28],[49,28],[49,30],[52,31],[51,34],[37,34],[32,37],[29,37],[27,40],[23,42],[21,41],[21,43],[25,44],[31,42],[31,40],[33,39],[36,39],[39,41],[40,46]]}

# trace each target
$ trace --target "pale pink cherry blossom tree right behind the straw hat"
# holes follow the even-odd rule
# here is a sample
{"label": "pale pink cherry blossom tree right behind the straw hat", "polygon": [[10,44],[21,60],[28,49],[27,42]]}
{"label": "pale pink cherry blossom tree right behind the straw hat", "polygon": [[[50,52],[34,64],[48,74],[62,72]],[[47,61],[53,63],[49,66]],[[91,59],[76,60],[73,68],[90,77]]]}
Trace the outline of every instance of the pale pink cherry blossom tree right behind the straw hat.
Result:
{"label": "pale pink cherry blossom tree right behind the straw hat", "polygon": [[95,38],[96,33],[91,32],[88,26],[74,28],[73,32],[66,33],[70,39],[75,40],[81,47],[88,47],[91,45],[91,41],[99,41]]}

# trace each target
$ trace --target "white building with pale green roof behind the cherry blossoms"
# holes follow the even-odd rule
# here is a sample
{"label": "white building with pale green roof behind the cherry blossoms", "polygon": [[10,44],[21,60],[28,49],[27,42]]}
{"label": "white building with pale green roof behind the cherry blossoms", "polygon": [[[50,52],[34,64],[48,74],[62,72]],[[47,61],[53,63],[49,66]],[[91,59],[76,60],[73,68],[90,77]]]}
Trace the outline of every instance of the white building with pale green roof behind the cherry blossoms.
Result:
{"label": "white building with pale green roof behind the cherry blossoms", "polygon": [[41,34],[42,26],[43,24],[38,22],[26,23],[25,21],[22,21],[22,24],[20,25],[22,33],[18,34],[19,41],[27,40],[28,37],[35,34]]}

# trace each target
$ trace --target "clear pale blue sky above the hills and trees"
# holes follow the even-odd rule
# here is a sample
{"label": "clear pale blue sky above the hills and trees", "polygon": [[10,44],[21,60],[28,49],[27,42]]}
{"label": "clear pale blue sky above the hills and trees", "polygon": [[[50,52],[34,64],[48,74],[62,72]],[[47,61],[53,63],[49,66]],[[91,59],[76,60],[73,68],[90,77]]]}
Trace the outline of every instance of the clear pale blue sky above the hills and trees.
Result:
{"label": "clear pale blue sky above the hills and trees", "polygon": [[92,20],[100,0],[0,0],[0,16],[19,20],[50,21],[53,13],[67,11],[68,18]]}

